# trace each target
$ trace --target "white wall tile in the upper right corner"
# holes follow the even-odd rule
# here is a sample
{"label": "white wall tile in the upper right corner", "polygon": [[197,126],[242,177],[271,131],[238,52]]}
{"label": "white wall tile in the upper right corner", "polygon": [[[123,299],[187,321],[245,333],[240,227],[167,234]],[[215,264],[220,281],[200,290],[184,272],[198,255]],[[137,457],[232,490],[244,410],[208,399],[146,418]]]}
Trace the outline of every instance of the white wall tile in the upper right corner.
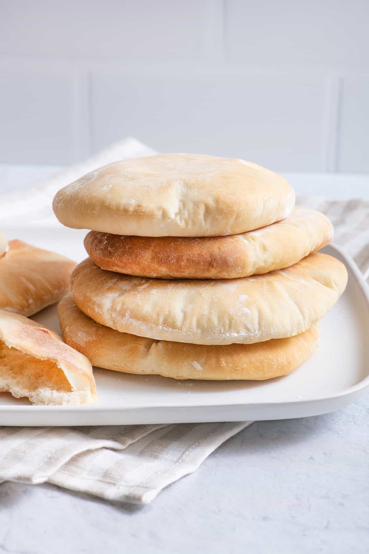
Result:
{"label": "white wall tile in the upper right corner", "polygon": [[331,68],[369,62],[368,0],[228,0],[227,6],[233,60]]}

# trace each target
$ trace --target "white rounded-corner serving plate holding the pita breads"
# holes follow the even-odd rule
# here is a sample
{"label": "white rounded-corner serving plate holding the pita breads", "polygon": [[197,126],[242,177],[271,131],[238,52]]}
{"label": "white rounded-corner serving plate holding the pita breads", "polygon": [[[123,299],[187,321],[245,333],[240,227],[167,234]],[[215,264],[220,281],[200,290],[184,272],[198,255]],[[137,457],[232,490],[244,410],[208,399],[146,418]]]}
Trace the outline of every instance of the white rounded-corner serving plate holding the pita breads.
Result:
{"label": "white rounded-corner serving plate holding the pita breads", "polygon": [[[55,227],[2,229],[77,261],[86,257],[85,231]],[[283,419],[334,411],[369,387],[369,289],[355,263],[340,249],[323,252],[343,261],[349,283],[320,324],[319,347],[296,371],[269,381],[175,381],[94,368],[98,403],[32,406],[0,394],[0,425],[112,425]],[[33,316],[60,333],[56,306]]]}

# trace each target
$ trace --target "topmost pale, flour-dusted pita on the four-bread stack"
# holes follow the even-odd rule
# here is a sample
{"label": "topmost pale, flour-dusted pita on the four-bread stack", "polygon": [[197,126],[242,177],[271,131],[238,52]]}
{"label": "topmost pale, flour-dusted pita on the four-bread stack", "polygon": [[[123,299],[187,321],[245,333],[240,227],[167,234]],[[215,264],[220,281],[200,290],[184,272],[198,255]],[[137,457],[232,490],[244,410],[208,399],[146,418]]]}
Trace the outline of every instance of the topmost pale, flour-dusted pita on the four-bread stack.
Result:
{"label": "topmost pale, flour-dusted pita on the four-bread stack", "polygon": [[162,154],[101,167],[61,189],[61,223],[118,235],[212,237],[283,219],[295,193],[283,178],[243,160]]}

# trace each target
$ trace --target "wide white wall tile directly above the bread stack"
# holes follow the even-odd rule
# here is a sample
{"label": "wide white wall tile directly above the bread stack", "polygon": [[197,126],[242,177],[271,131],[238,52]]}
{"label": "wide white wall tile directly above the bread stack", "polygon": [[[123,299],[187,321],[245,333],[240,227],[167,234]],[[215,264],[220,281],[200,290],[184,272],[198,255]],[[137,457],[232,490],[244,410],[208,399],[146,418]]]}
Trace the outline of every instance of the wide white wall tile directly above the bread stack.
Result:
{"label": "wide white wall tile directly above the bread stack", "polygon": [[[321,79],[94,73],[92,145],[99,149],[124,132],[159,151],[246,156],[271,167],[324,171],[324,95]],[[309,111],[302,109],[306,104]]]}

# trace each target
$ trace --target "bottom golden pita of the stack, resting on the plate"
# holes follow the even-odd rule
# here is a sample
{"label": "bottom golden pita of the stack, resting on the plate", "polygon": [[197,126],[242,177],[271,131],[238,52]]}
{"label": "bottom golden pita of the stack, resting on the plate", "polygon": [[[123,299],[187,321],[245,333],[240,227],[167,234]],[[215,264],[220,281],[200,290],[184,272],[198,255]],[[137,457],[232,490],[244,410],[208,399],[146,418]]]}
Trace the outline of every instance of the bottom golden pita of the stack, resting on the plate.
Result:
{"label": "bottom golden pita of the stack, resting on the plate", "polygon": [[302,365],[318,345],[318,324],[290,338],[253,345],[203,346],[155,341],[120,333],[93,321],[71,295],[58,306],[60,328],[67,344],[92,365],[141,375],[174,379],[270,379]]}

